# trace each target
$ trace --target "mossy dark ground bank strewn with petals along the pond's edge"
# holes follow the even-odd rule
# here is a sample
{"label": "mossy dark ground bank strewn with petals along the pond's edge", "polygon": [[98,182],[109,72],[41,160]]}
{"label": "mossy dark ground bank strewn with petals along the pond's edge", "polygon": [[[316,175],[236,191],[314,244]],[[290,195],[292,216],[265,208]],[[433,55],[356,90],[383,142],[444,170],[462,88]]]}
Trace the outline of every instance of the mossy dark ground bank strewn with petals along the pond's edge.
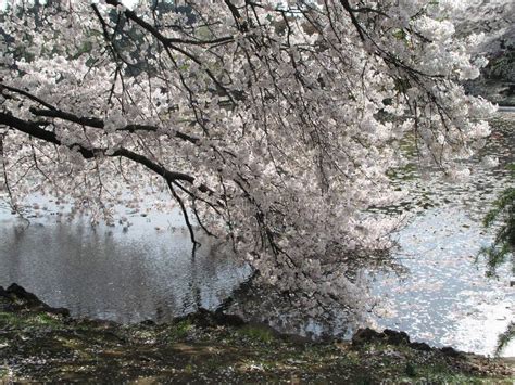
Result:
{"label": "mossy dark ground bank strewn with petals along the pond's edge", "polygon": [[0,378],[92,383],[498,383],[506,361],[453,357],[382,341],[313,344],[264,325],[221,324],[209,312],[155,325],[74,320],[2,306]]}

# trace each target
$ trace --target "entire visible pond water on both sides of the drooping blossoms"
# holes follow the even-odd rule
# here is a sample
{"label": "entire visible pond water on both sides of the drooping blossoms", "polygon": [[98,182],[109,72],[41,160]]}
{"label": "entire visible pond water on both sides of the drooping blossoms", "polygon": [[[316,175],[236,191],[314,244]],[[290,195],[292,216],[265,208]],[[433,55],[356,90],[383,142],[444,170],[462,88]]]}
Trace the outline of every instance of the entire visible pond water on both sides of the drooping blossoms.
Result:
{"label": "entire visible pond water on both sides of the drooping blossoms", "polygon": [[[514,319],[514,278],[504,268],[498,279],[486,279],[485,266],[475,259],[492,240],[492,231],[481,228],[482,216],[495,194],[513,184],[504,169],[514,162],[513,121],[515,114],[503,113],[483,150],[499,156],[498,167],[472,159],[472,177],[453,183],[436,172],[401,172],[399,183],[409,195],[392,210],[410,219],[398,234],[394,257],[407,272],[369,273],[372,292],[384,308],[373,320],[378,328],[403,330],[432,345],[492,354],[497,336]],[[27,227],[0,206],[0,285],[16,282],[74,316],[165,321],[199,306],[216,308],[250,273],[209,246],[192,259],[189,236],[176,214],[127,213],[134,223],[127,231],[91,228],[87,218],[68,222],[51,211]],[[286,332],[327,332],[310,319],[292,326],[263,308],[252,310],[246,316],[266,319]],[[344,330],[342,323],[335,320],[332,330]],[[515,356],[515,344],[504,356]]]}

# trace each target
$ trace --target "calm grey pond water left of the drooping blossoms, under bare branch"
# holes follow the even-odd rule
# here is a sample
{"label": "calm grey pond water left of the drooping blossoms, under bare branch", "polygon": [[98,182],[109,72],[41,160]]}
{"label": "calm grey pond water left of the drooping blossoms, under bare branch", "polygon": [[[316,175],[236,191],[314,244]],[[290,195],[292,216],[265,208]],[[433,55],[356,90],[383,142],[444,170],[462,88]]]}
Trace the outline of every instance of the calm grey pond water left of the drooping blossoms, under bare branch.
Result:
{"label": "calm grey pond water left of the drooping blossoms, under bare branch", "polygon": [[138,322],[215,308],[248,274],[206,242],[193,260],[181,230],[156,232],[147,222],[136,228],[124,233],[49,220],[24,228],[3,220],[0,285],[20,283],[74,315]]}

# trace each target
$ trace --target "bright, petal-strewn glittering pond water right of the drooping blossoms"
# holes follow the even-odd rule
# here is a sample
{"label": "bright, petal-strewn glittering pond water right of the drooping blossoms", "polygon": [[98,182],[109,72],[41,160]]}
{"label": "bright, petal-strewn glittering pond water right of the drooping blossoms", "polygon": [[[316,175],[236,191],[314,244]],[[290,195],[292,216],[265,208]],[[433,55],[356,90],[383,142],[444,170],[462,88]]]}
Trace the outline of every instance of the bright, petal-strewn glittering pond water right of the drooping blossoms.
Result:
{"label": "bright, petal-strewn glittering pond water right of the drooping blossoms", "polygon": [[[493,240],[482,218],[500,191],[514,185],[506,166],[514,162],[513,114],[495,121],[497,130],[479,155],[465,163],[465,180],[445,181],[437,172],[407,168],[400,182],[409,192],[398,210],[417,211],[399,233],[397,258],[409,272],[378,274],[374,292],[390,301],[381,326],[406,331],[419,341],[491,354],[497,338],[515,320],[515,287],[511,266],[486,278],[479,256]],[[499,158],[490,167],[485,155]],[[415,204],[413,204],[415,202]],[[515,356],[515,344],[505,350]]]}

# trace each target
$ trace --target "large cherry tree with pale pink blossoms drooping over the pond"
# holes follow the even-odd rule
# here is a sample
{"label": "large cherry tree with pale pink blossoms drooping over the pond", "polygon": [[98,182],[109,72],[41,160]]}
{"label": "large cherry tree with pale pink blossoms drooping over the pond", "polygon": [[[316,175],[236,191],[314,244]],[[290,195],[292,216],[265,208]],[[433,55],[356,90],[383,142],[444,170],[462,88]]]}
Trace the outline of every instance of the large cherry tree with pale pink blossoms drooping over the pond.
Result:
{"label": "large cherry tree with pale pink blossoms drooping over the pond", "polygon": [[[388,249],[403,141],[459,174],[489,134],[465,94],[481,36],[451,1],[26,2],[3,14],[2,191],[66,197],[95,220],[168,191],[203,233],[280,290],[357,307],[349,261]],[[130,193],[127,194],[127,191]]]}

